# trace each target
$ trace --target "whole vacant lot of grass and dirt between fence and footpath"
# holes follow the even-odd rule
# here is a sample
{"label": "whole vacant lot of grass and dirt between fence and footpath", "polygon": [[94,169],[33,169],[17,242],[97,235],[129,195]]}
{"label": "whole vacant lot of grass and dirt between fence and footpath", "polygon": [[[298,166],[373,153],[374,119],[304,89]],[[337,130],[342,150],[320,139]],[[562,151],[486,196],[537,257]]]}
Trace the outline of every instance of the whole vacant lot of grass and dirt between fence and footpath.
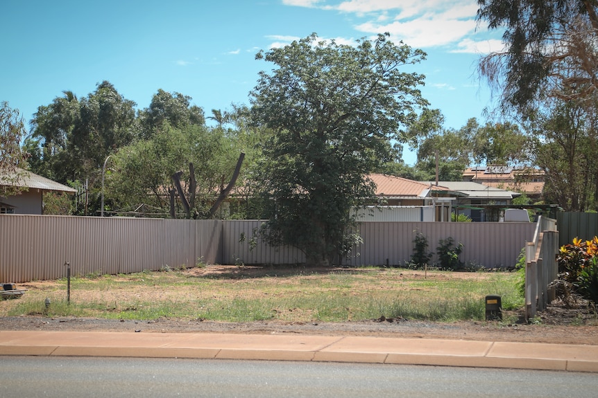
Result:
{"label": "whole vacant lot of grass and dirt between fence and footpath", "polygon": [[[549,341],[560,334],[561,342],[592,343],[592,338],[596,342],[596,316],[587,311],[581,316],[547,312],[536,325],[522,323],[523,300],[516,280],[517,275],[508,272],[272,266],[87,275],[71,280],[70,305],[66,280],[20,284],[28,289],[22,298],[0,302],[0,329],[401,334],[531,341]],[[502,322],[486,321],[488,294],[502,297]],[[51,302],[48,307],[46,298]],[[578,332],[581,336],[575,337]]]}

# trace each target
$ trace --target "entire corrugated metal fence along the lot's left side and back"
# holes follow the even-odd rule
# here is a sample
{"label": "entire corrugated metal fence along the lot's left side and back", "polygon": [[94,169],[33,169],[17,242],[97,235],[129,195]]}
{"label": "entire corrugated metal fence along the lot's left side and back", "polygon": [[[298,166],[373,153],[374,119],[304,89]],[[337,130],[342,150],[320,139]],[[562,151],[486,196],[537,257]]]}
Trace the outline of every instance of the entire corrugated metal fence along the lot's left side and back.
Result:
{"label": "entire corrugated metal fence along the lot's left side and back", "polygon": [[[156,271],[206,264],[293,264],[305,261],[296,248],[271,248],[250,239],[262,221],[180,220],[124,217],[0,216],[0,282],[73,275]],[[435,252],[439,239],[463,243],[461,261],[512,267],[533,239],[532,223],[364,222],[364,244],[343,264],[402,265],[422,233]],[[433,259],[434,261],[434,259]]]}

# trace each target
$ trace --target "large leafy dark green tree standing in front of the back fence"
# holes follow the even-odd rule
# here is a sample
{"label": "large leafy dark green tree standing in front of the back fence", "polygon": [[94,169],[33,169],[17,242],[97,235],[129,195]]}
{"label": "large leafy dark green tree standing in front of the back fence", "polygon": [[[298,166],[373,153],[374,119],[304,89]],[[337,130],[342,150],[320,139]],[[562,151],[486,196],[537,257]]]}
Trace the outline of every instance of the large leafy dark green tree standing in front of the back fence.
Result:
{"label": "large leafy dark green tree standing in front of the back fence", "polygon": [[327,265],[352,245],[352,209],[373,196],[366,174],[394,160],[391,140],[427,107],[424,76],[409,64],[425,53],[388,35],[356,46],[316,34],[257,54],[275,64],[251,92],[256,123],[273,129],[257,181],[272,203],[266,241],[291,244]]}

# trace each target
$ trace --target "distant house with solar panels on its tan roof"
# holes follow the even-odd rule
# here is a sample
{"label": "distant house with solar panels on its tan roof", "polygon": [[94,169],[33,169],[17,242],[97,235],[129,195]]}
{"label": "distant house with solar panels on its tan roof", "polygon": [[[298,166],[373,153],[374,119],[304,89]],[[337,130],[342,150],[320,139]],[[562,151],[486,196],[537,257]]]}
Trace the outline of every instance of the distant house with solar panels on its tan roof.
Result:
{"label": "distant house with solar panels on its tan roof", "polygon": [[544,190],[544,172],[526,166],[486,165],[468,168],[463,172],[463,181],[484,184],[521,192],[533,201],[539,201]]}

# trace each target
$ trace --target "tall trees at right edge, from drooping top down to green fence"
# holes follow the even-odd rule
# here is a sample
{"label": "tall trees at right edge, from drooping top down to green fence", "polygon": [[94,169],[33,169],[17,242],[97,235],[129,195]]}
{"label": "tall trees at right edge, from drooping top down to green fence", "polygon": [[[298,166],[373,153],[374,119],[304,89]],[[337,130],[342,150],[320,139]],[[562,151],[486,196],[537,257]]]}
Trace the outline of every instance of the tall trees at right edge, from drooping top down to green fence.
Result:
{"label": "tall trees at right edge, from drooping top down to green fence", "polygon": [[515,111],[537,138],[535,161],[545,171],[547,200],[567,210],[595,208],[598,1],[478,4],[478,20],[504,29],[506,44],[482,58],[481,74],[501,91],[501,110]]}

